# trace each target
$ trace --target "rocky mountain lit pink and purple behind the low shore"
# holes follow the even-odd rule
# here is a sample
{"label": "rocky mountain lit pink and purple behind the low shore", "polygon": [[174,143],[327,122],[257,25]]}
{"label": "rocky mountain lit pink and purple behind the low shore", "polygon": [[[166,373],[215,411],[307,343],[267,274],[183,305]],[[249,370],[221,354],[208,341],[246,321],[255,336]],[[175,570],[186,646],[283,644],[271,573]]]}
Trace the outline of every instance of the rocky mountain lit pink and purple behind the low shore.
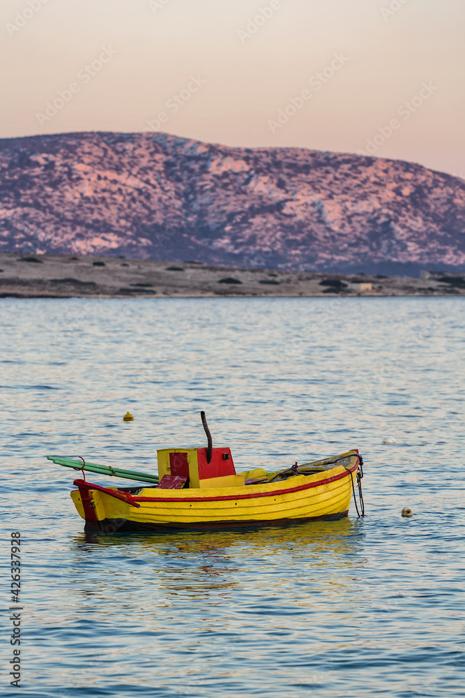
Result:
{"label": "rocky mountain lit pink and purple behind the low shore", "polygon": [[163,133],[0,140],[0,251],[333,272],[465,270],[465,182]]}

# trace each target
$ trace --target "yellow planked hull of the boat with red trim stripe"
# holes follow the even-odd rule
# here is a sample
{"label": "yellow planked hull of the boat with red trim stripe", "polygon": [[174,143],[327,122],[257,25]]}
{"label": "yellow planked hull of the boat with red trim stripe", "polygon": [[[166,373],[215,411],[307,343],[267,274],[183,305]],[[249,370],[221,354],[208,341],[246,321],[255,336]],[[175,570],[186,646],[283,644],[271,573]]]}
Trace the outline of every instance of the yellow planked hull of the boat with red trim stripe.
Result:
{"label": "yellow planked hull of the boat with red trim stripe", "polygon": [[[307,463],[306,475],[216,489],[103,488],[76,480],[71,493],[86,530],[216,529],[347,516],[359,466],[356,451]],[[312,468],[314,472],[312,472]],[[245,473],[247,475],[252,474]]]}

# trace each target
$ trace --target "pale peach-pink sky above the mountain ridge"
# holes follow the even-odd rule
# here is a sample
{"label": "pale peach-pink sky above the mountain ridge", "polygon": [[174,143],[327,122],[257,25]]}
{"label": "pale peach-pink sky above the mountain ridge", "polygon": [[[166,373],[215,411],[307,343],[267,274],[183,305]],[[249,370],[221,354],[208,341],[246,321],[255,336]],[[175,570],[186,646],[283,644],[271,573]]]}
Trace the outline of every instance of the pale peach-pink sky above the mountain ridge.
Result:
{"label": "pale peach-pink sky above the mountain ridge", "polygon": [[465,177],[465,0],[3,0],[0,24],[1,138],[145,128]]}

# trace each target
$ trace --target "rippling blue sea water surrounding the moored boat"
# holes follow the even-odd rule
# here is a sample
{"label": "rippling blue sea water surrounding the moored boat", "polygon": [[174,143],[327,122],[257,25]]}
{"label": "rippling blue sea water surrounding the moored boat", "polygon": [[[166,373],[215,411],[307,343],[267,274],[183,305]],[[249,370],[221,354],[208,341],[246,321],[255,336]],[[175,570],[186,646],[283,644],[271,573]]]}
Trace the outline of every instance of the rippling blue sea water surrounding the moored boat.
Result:
{"label": "rippling blue sea water surrounding the moored boat", "polygon": [[[7,694],[464,695],[462,299],[3,299],[0,318],[4,540],[24,540]],[[44,456],[155,470],[204,444],[201,409],[237,470],[358,447],[365,519],[85,535],[74,471]]]}

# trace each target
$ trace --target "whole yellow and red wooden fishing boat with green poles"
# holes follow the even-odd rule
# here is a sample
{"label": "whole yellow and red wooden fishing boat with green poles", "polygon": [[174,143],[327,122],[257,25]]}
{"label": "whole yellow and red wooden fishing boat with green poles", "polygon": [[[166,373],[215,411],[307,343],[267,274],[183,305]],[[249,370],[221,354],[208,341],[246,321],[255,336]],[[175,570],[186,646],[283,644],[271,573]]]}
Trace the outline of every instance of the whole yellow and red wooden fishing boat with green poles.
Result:
{"label": "whole yellow and red wooden fishing boat with green poles", "polygon": [[71,497],[86,521],[85,530],[215,530],[340,519],[349,514],[356,482],[363,515],[363,459],[358,450],[295,463],[276,472],[254,468],[236,473],[231,450],[213,448],[205,415],[201,415],[208,447],[158,450],[158,478],[85,463],[84,459],[82,464],[47,456],[82,470],[83,475],[88,470],[132,480],[144,478],[142,487],[101,487],[87,482],[85,475],[75,480],[77,489]]}

